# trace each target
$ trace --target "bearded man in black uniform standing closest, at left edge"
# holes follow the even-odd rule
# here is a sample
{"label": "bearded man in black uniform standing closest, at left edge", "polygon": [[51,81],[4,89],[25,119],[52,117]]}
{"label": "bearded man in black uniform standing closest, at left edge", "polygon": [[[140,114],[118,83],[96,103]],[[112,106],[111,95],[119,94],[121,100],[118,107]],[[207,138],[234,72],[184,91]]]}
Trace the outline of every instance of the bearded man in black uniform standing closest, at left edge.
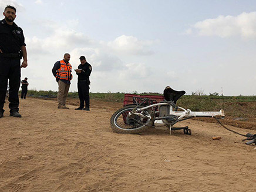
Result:
{"label": "bearded man in black uniform standing closest, at left edge", "polygon": [[21,68],[28,66],[25,38],[22,29],[14,23],[16,18],[14,6],[6,6],[4,16],[5,18],[0,21],[0,118],[4,116],[8,79],[10,116],[21,117],[18,96]]}

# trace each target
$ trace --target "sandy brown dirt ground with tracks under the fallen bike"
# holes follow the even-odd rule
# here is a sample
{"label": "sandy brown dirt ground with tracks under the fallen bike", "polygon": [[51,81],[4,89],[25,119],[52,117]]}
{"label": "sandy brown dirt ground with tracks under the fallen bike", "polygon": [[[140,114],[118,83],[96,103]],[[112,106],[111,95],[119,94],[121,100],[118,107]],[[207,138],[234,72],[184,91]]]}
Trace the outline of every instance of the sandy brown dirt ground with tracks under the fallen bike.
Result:
{"label": "sandy brown dirt ground with tracks under the fallen bike", "polygon": [[191,136],[156,129],[117,134],[109,120],[120,103],[92,100],[90,112],[69,107],[28,98],[21,100],[23,117],[15,118],[5,105],[1,192],[256,190],[255,146],[216,123],[180,123],[192,129]]}

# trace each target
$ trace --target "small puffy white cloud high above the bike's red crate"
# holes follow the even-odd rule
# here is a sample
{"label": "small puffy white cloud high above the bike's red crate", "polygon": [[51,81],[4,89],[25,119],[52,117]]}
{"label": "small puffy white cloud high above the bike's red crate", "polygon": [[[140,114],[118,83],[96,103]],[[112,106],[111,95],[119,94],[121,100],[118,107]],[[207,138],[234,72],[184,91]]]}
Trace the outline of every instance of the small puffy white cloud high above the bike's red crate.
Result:
{"label": "small puffy white cloud high above the bike's red crate", "polygon": [[142,41],[134,36],[122,35],[110,41],[107,45],[115,52],[125,52],[132,55],[151,55],[153,51],[150,46],[154,45],[157,41]]}

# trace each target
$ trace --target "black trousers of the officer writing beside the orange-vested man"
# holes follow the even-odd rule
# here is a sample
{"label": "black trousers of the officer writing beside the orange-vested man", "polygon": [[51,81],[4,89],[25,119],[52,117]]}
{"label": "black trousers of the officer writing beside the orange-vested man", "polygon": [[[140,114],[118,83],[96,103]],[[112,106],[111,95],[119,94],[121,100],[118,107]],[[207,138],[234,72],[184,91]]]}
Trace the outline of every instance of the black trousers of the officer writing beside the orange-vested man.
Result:
{"label": "black trousers of the officer writing beside the orange-vested man", "polygon": [[90,97],[89,97],[89,85],[86,80],[78,81],[78,96],[80,99],[80,108],[90,107]]}

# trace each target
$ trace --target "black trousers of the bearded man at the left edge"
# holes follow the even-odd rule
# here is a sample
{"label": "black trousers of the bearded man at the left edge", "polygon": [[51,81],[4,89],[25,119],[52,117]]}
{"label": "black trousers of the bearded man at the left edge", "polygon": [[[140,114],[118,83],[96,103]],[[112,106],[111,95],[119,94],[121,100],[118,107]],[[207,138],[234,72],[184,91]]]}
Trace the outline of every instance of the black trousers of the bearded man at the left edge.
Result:
{"label": "black trousers of the bearded man at the left edge", "polygon": [[21,84],[21,60],[0,57],[0,111],[4,113],[5,94],[9,79],[10,112],[19,111],[19,85]]}

